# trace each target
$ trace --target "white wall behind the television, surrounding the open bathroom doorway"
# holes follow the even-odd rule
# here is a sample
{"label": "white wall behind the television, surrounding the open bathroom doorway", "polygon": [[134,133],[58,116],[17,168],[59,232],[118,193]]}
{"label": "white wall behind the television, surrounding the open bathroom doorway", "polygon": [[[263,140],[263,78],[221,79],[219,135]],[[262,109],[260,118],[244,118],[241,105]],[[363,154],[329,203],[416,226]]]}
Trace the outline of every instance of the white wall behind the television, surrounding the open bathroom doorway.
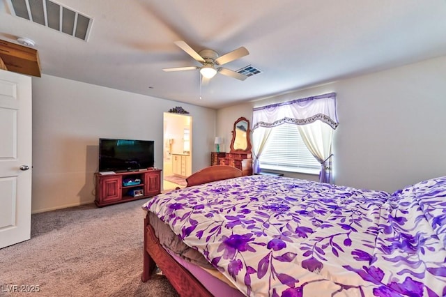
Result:
{"label": "white wall behind the television, surrounding the open bathroom doorway", "polygon": [[163,113],[192,116],[192,171],[210,165],[214,109],[43,75],[33,77],[32,211],[91,203],[100,137],[155,140],[162,168]]}

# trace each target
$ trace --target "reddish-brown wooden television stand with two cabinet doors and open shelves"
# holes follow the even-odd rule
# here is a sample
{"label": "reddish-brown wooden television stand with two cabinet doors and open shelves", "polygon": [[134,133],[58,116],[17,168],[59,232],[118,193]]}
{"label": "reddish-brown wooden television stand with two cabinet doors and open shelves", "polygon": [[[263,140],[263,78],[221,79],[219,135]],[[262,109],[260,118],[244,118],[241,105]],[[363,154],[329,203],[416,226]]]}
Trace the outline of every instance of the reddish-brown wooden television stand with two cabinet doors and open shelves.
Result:
{"label": "reddish-brown wooden television stand with two cabinet doors and open shelves", "polygon": [[95,173],[95,204],[98,207],[153,197],[161,192],[161,169]]}

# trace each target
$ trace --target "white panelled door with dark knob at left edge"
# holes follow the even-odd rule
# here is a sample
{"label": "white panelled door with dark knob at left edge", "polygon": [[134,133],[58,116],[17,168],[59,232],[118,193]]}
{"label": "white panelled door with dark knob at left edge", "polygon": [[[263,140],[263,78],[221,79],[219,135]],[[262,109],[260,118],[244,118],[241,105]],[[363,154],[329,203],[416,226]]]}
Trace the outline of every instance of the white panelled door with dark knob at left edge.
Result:
{"label": "white panelled door with dark knob at left edge", "polygon": [[31,237],[31,103],[31,77],[0,70],[0,248]]}

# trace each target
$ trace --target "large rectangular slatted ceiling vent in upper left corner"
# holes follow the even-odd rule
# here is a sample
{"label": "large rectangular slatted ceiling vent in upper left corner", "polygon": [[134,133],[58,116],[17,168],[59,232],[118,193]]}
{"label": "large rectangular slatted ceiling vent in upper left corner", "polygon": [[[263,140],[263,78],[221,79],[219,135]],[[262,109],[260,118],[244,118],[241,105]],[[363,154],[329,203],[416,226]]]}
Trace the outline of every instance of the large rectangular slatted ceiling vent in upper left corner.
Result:
{"label": "large rectangular slatted ceiling vent in upper left corner", "polygon": [[47,26],[70,36],[87,40],[93,19],[49,0],[7,0],[17,17]]}

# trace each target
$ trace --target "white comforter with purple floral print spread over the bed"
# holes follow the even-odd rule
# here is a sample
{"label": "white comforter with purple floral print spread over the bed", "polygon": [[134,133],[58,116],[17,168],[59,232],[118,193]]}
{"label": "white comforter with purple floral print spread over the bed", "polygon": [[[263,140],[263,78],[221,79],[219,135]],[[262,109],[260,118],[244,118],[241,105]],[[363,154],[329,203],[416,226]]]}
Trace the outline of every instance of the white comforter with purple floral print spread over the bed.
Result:
{"label": "white comforter with purple floral print spread over the bed", "polygon": [[243,176],[143,208],[247,296],[446,295],[446,177],[389,195]]}

